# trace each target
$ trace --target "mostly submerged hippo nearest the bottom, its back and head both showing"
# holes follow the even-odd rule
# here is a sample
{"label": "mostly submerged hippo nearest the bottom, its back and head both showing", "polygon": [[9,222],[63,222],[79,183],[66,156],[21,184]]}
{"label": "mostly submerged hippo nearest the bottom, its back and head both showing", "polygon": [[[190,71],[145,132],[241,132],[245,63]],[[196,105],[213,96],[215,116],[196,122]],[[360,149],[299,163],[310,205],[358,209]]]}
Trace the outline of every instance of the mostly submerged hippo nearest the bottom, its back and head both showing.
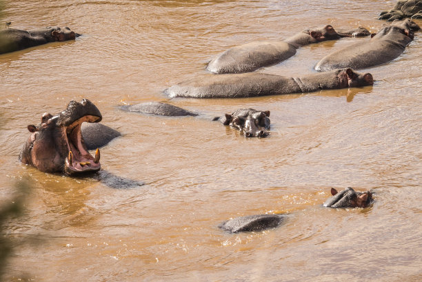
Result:
{"label": "mostly submerged hippo nearest the bottom, its back and head both showing", "polygon": [[[325,201],[324,207],[330,208],[366,208],[373,201],[372,192],[356,192],[352,188],[337,193],[334,188],[331,189],[333,197]],[[335,195],[335,196],[334,196]],[[262,231],[269,228],[276,228],[285,222],[288,214],[257,214],[241,216],[236,219],[224,221],[219,228],[227,230],[230,233]]]}

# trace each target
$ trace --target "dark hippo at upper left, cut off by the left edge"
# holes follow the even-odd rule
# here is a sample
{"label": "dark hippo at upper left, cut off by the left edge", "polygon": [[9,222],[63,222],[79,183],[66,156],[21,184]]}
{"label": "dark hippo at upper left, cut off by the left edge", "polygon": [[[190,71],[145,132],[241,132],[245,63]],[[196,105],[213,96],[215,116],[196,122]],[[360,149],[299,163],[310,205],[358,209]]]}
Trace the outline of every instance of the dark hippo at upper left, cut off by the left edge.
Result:
{"label": "dark hippo at upper left, cut off by the left edge", "polygon": [[77,34],[68,27],[48,27],[38,30],[0,30],[0,54],[14,52],[54,41],[74,40]]}

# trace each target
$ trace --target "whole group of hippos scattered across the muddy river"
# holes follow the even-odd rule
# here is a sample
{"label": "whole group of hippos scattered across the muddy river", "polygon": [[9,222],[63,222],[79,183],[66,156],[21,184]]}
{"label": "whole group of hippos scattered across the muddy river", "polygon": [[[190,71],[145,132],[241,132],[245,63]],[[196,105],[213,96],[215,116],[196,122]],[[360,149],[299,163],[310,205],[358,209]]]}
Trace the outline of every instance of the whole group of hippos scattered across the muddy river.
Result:
{"label": "whole group of hippos scattered across the muddy river", "polygon": [[[337,32],[330,25],[321,29],[304,30],[284,41],[257,41],[226,50],[210,61],[207,70],[213,74],[183,81],[165,90],[168,97],[237,98],[263,95],[314,92],[372,85],[372,74],[359,74],[353,69],[369,68],[392,61],[413,40],[419,26],[410,19],[422,18],[422,0],[399,1],[396,6],[382,12],[380,19],[392,21],[376,34],[365,28]],[[69,28],[43,28],[39,30],[0,31],[0,54],[38,46],[52,41],[74,40],[80,34]],[[319,71],[304,77],[281,77],[254,72],[292,57],[297,48],[311,43],[336,40],[342,37],[364,37],[368,41],[346,46],[332,52],[316,63]],[[194,112],[168,103],[141,103],[123,105],[121,110],[163,116],[197,115]],[[267,137],[270,130],[270,111],[239,109],[232,114],[217,117],[241,130],[245,137]],[[101,113],[89,100],[70,101],[66,110],[52,115],[45,113],[39,125],[28,125],[30,137],[23,145],[19,159],[42,172],[64,172],[77,175],[97,172],[101,168],[99,147],[106,145],[119,132],[101,125]],[[84,126],[82,126],[83,122]],[[88,152],[97,148],[94,157]],[[347,188],[341,192],[331,189],[332,197],[325,207],[365,208],[373,202],[372,192],[357,192]],[[258,214],[230,219],[219,225],[228,232],[259,231],[275,228],[283,223],[286,214]]]}

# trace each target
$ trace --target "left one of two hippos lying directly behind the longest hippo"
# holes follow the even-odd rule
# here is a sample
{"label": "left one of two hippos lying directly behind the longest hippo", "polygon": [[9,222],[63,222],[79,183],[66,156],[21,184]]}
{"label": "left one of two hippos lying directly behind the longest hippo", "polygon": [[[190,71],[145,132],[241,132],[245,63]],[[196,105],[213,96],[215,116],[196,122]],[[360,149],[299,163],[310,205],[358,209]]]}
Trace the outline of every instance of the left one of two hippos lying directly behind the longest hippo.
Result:
{"label": "left one of two hippos lying directly behind the longest hippo", "polygon": [[254,41],[230,48],[210,61],[207,70],[214,74],[252,72],[284,61],[296,54],[298,48],[310,43],[369,34],[365,28],[336,32],[330,25],[321,29],[308,29],[285,41]]}

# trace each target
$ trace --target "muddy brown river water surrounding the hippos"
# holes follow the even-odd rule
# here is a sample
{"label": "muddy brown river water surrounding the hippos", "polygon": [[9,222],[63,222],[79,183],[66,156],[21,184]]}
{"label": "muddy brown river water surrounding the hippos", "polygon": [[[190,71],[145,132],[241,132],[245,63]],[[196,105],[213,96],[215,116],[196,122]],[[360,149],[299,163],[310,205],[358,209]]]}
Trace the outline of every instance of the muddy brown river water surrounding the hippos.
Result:
{"label": "muddy brown river water surrounding the hippos", "polygon": [[[118,105],[167,101],[227,48],[312,26],[379,30],[395,1],[6,1],[14,28],[69,26],[76,41],[0,56],[0,203],[32,183],[6,281],[421,281],[422,33],[397,59],[361,70],[372,87],[253,99],[172,99],[199,117]],[[420,25],[422,21],[417,21]],[[1,24],[0,24],[1,27]],[[260,70],[299,76],[364,39],[306,46]],[[103,169],[143,181],[113,189],[17,160],[26,126],[86,98],[123,137]],[[210,121],[271,111],[271,135],[246,139]],[[372,208],[332,210],[329,188],[373,189]],[[228,234],[226,219],[290,213],[265,232]]]}

